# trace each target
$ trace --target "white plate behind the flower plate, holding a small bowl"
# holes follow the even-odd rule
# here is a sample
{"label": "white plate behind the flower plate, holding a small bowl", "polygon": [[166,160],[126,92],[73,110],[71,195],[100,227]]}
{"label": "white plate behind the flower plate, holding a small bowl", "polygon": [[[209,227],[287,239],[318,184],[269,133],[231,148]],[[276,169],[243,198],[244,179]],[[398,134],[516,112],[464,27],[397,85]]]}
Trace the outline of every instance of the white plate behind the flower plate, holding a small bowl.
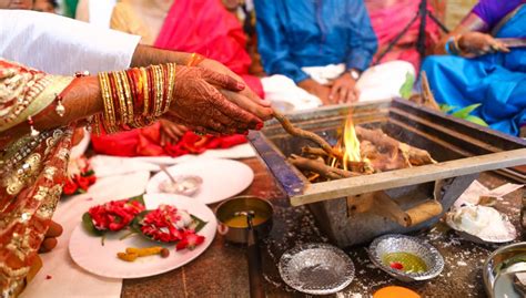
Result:
{"label": "white plate behind the flower plate, holding a small bowl", "polygon": [[[192,195],[204,204],[213,204],[237,195],[254,179],[247,165],[230,160],[205,158],[181,163],[168,168],[172,176],[196,175],[203,179],[201,188]],[[155,174],[146,185],[148,194],[159,194],[159,185],[169,177],[163,172]]]}

